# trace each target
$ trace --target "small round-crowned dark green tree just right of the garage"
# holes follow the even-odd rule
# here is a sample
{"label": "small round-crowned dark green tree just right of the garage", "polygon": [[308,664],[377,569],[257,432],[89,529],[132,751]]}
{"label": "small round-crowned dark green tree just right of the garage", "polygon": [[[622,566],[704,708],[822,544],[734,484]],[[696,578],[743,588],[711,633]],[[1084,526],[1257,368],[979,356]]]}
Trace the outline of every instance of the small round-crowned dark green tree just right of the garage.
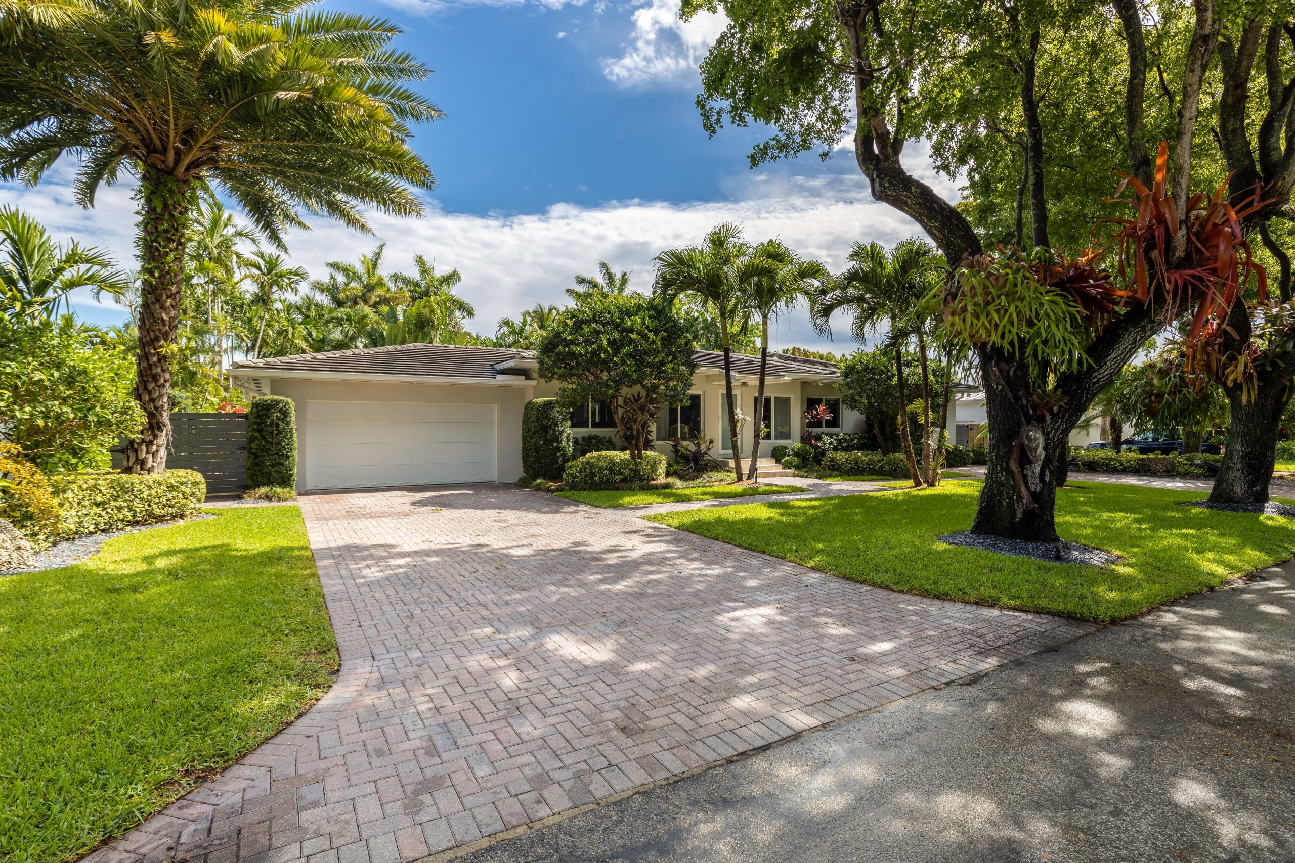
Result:
{"label": "small round-crowned dark green tree just right of the garage", "polygon": [[539,348],[540,378],[558,380],[566,406],[598,399],[635,458],[650,445],[663,404],[681,405],[693,384],[693,340],[668,301],[641,294],[581,294],[562,309]]}

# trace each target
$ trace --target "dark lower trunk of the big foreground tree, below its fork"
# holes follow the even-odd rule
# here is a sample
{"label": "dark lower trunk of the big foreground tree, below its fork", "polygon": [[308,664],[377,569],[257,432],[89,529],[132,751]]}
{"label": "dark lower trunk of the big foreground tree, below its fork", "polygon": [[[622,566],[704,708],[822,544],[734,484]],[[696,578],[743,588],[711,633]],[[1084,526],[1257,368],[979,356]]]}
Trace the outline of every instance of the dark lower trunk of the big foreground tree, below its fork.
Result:
{"label": "dark lower trunk of the big foreground tree, below its fork", "polygon": [[980,349],[989,458],[973,533],[1055,542],[1057,476],[1061,446],[1048,452],[1035,415],[1033,386],[1023,362]]}

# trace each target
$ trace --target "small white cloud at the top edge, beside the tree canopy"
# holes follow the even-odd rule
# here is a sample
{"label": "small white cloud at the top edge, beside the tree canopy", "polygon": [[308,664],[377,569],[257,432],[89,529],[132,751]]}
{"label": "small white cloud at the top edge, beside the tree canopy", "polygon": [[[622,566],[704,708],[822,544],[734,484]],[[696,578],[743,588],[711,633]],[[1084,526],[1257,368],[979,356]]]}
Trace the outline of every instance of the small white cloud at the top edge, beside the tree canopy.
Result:
{"label": "small white cloud at the top edge, beside the tree canopy", "polygon": [[710,47],[724,32],[721,13],[679,17],[679,0],[638,0],[635,31],[620,57],[603,57],[602,74],[623,87],[692,83]]}

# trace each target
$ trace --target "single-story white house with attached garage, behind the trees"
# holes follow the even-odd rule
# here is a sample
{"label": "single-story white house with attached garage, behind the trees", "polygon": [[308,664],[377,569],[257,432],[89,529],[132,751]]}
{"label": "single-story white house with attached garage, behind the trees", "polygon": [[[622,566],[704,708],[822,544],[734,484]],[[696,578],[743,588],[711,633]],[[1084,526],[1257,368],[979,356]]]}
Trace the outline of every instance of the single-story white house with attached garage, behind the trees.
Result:
{"label": "single-story white house with attached garage, behind the trees", "polygon": [[[689,402],[662,410],[657,449],[698,424],[716,441],[712,455],[730,458],[724,402],[724,357],[694,355]],[[522,409],[554,396],[540,380],[532,351],[448,344],[329,351],[236,362],[229,375],[250,396],[286,396],[297,406],[297,489],[379,488],[438,483],[510,483],[522,475]],[[734,396],[754,417],[760,358],[732,355]],[[813,431],[861,432],[865,418],[840,404],[837,365],[771,353],[765,370],[768,455],[799,442],[805,413],[826,405],[831,419]],[[958,391],[967,387],[958,386]],[[603,404],[572,411],[576,435],[615,436]],[[742,428],[739,445],[750,442]],[[743,450],[743,455],[746,450]]]}

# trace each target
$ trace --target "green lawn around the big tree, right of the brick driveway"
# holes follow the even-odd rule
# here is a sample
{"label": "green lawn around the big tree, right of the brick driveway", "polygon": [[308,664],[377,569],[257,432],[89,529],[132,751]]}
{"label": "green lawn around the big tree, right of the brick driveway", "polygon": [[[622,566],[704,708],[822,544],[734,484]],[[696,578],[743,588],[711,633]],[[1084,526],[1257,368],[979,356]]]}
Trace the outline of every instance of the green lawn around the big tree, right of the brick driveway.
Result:
{"label": "green lawn around the big tree, right of the brick driveway", "polygon": [[1116,621],[1295,555],[1295,519],[1176,506],[1200,492],[1090,483],[1058,492],[1063,538],[1124,556],[1107,568],[948,546],[979,483],[645,516],[855,581],[926,596]]}

